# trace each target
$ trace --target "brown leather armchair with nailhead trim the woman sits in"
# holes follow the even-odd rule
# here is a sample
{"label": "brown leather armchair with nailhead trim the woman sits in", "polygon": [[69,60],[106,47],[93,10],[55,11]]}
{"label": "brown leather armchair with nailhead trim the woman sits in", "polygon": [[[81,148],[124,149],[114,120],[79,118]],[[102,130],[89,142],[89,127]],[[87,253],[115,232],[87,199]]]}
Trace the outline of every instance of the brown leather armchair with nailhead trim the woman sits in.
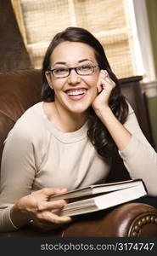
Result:
{"label": "brown leather armchair with nailhead trim the woman sits in", "polygon": [[[127,82],[125,80],[125,83]],[[40,70],[30,69],[0,74],[0,160],[3,141],[8,131],[27,108],[41,101],[41,88]],[[120,159],[115,159],[113,170],[116,172],[111,172],[108,182],[128,178]],[[114,177],[117,170],[118,177]],[[0,236],[157,236],[157,208],[132,201],[104,211],[83,215],[59,230],[43,231],[28,224],[14,232],[0,233]]]}

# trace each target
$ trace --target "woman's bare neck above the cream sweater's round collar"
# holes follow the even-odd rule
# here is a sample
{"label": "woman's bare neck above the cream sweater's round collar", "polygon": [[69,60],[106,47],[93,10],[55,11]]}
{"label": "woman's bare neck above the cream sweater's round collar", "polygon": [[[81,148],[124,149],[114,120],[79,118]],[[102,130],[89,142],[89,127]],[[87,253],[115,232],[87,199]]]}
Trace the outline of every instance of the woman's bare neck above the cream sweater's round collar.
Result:
{"label": "woman's bare neck above the cream sweater's round collar", "polygon": [[55,102],[44,102],[44,112],[50,121],[60,131],[72,132],[76,131],[84,125],[88,118],[88,112],[71,113],[67,109],[59,108]]}

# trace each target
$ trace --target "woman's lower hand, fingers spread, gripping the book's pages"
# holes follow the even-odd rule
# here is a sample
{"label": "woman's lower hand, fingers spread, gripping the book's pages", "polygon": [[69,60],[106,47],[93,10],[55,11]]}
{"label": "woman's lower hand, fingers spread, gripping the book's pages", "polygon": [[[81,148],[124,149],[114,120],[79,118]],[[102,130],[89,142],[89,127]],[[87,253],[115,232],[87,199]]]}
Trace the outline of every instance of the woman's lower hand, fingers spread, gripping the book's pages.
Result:
{"label": "woman's lower hand, fingers spread, gripping the book's pages", "polygon": [[62,224],[69,223],[71,221],[70,217],[60,217],[52,212],[54,209],[60,210],[64,207],[66,201],[48,201],[50,196],[64,192],[66,192],[66,189],[46,188],[22,197],[14,205],[12,212],[10,212],[13,223],[18,226],[18,219],[16,220],[14,216],[16,212],[19,212],[19,218],[21,216],[21,220],[22,217],[27,222],[31,220],[34,225],[45,230],[56,229]]}

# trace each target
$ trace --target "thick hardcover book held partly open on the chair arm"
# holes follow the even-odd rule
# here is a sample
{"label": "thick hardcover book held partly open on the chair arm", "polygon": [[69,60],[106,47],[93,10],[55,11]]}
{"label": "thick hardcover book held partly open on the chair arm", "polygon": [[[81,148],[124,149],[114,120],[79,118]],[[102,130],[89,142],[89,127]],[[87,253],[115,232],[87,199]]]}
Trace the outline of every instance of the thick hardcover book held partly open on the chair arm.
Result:
{"label": "thick hardcover book held partly open on the chair arm", "polygon": [[75,216],[115,207],[144,195],[147,195],[147,189],[143,180],[132,179],[74,189],[64,194],[53,195],[50,200],[68,200],[61,210],[53,210],[53,213],[59,216]]}

